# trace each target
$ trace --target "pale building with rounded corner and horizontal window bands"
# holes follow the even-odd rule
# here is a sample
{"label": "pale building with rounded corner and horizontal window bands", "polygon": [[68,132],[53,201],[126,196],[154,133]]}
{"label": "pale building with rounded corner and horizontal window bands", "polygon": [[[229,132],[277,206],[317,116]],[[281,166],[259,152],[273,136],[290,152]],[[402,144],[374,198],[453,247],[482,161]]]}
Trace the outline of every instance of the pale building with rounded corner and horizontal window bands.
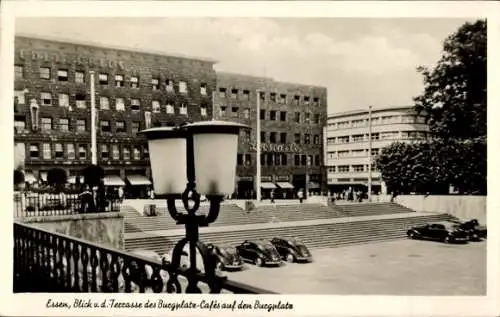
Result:
{"label": "pale building with rounded corner and horizontal window bands", "polygon": [[[328,116],[326,165],[331,192],[349,187],[366,190],[370,160],[368,120],[368,109]],[[425,117],[417,115],[412,107],[373,109],[371,123],[372,189],[384,192],[380,171],[373,164],[376,156],[393,142],[414,142],[426,138],[429,127]]]}

